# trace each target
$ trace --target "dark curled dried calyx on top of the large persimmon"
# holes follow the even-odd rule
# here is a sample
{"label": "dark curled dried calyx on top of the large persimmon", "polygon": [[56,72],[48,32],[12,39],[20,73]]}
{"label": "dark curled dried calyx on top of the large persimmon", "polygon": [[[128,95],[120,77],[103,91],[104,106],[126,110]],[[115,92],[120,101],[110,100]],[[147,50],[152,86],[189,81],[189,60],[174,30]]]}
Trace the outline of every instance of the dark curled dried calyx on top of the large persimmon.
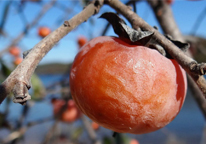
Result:
{"label": "dark curled dried calyx on top of the large persimmon", "polygon": [[[155,49],[163,56],[169,59],[173,59],[166,52],[166,50],[159,43],[156,42],[156,39],[153,38],[155,31],[151,32],[151,31],[144,31],[141,28],[139,28],[138,30],[130,28],[129,26],[126,25],[126,22],[123,19],[121,19],[117,14],[112,12],[104,13],[100,16],[100,18],[104,18],[107,21],[109,21],[109,23],[111,23],[114,29],[114,32],[125,42],[131,45],[142,45],[142,46]],[[157,27],[155,27],[155,29],[158,30]],[[165,37],[184,52],[187,51],[187,49],[190,47],[188,43],[182,43],[178,40],[174,40],[169,35],[165,35]]]}

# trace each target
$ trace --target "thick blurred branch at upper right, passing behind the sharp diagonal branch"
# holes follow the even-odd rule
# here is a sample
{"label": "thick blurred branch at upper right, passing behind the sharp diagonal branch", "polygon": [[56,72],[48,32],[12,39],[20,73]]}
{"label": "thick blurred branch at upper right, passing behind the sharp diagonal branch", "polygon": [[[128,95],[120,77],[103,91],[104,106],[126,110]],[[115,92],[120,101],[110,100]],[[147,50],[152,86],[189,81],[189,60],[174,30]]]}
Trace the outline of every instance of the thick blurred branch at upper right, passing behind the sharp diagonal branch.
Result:
{"label": "thick blurred branch at upper right, passing behind the sharp diagonal branch", "polygon": [[[166,4],[165,1],[148,0],[148,3],[153,9],[164,33],[173,36],[174,39],[185,41],[176,25],[170,6]],[[159,11],[161,11],[161,14]],[[191,54],[189,53],[189,55]],[[201,93],[200,89],[197,87],[190,76],[188,76],[188,86],[190,87],[193,97],[197,101],[198,106],[200,107],[204,117],[206,118],[206,101],[204,99],[204,95]]]}

